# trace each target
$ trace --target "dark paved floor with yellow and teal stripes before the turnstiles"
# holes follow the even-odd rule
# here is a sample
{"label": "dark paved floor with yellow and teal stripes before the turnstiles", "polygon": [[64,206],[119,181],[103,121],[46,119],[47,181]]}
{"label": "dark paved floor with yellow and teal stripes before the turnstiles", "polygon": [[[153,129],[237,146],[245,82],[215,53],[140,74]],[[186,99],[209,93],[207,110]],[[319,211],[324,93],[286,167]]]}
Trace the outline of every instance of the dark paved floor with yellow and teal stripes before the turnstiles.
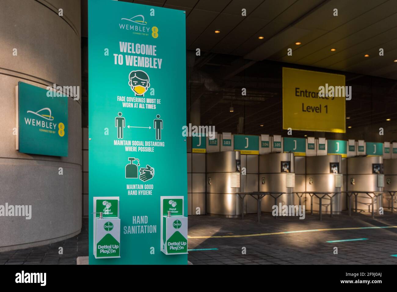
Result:
{"label": "dark paved floor with yellow and teal stripes before the turnstiles", "polygon": [[[333,218],[306,214],[298,217],[278,217],[262,213],[228,219],[218,216],[189,216],[189,249],[217,249],[189,251],[188,259],[195,265],[213,264],[397,264],[397,228],[325,230],[252,236],[254,234],[318,230],[329,228],[357,228],[397,226],[397,213],[386,212],[372,219],[369,213],[347,213]],[[243,235],[243,237],[241,237]],[[248,235],[248,236],[247,236]],[[220,236],[202,238],[202,236]],[[223,237],[227,236],[227,237]],[[368,240],[327,243],[330,240],[368,238]],[[58,254],[62,246],[63,255]],[[338,254],[333,254],[334,247]],[[243,248],[246,254],[243,254]],[[37,248],[0,253],[0,264],[76,264],[79,256],[88,255],[88,220],[83,219],[81,234]]]}

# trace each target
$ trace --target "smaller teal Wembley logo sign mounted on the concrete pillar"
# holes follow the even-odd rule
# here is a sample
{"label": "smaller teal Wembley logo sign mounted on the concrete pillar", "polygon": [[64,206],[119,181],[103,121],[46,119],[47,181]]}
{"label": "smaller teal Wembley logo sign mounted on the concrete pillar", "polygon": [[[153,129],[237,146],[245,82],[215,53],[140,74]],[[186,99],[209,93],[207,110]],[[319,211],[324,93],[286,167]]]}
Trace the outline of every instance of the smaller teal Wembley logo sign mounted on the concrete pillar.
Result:
{"label": "smaller teal Wembley logo sign mounted on the concrete pillar", "polygon": [[67,156],[67,96],[18,83],[18,150],[21,153]]}

